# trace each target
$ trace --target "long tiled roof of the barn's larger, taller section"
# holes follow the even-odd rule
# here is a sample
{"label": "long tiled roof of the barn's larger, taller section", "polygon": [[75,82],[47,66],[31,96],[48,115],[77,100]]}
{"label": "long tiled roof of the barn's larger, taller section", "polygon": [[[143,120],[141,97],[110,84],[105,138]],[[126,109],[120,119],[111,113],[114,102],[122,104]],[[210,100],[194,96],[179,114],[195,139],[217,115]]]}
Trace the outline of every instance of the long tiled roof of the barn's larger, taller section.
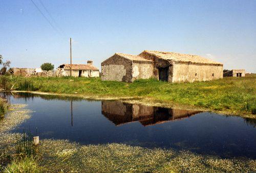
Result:
{"label": "long tiled roof of the barn's larger, taller section", "polygon": [[201,64],[222,64],[220,62],[212,61],[197,55],[180,54],[174,52],[160,52],[160,51],[144,51],[145,53],[155,55],[166,60],[173,60],[177,62],[193,62]]}

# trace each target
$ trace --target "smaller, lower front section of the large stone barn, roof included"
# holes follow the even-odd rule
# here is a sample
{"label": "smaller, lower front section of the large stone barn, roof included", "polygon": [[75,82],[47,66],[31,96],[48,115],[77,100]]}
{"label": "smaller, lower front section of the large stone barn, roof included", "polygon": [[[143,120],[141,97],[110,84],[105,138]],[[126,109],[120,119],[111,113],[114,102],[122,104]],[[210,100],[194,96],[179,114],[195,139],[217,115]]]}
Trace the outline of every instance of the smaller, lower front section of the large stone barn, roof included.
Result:
{"label": "smaller, lower front section of the large stone barn, roof included", "polygon": [[153,77],[153,61],[136,55],[116,53],[101,63],[103,81],[133,82]]}

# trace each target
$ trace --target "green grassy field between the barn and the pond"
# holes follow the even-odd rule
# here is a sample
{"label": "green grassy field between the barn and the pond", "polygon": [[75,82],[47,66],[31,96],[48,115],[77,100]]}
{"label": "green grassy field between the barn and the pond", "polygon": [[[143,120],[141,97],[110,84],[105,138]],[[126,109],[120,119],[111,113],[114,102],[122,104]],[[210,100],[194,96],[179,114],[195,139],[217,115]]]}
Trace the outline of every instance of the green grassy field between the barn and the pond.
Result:
{"label": "green grassy field between the barn and the pond", "polygon": [[[5,88],[100,97],[135,97],[142,103],[200,108],[256,118],[256,77],[224,78],[208,82],[167,83],[154,79],[133,83],[100,78],[10,78]],[[2,82],[3,83],[3,82]]]}

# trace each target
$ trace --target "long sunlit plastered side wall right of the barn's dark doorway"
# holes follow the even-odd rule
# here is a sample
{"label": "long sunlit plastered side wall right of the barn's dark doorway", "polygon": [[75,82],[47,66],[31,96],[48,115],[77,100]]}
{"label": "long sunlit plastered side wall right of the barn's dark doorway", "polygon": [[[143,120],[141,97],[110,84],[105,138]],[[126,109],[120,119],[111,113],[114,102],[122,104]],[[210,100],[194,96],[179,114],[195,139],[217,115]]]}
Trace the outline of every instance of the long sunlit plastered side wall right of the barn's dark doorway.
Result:
{"label": "long sunlit plastered side wall right of the barn's dark doorway", "polygon": [[173,65],[172,82],[209,81],[223,78],[223,66],[179,63]]}

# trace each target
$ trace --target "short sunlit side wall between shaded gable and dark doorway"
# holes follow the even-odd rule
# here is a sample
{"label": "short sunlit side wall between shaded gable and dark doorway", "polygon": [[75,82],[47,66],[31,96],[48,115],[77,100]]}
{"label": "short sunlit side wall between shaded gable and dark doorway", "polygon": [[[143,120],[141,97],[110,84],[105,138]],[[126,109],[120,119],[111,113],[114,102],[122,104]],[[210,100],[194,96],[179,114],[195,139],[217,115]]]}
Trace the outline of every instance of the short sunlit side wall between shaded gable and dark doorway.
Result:
{"label": "short sunlit side wall between shaded gable and dark doorway", "polygon": [[133,78],[132,81],[136,79],[150,79],[154,77],[153,64],[138,64],[133,63]]}

